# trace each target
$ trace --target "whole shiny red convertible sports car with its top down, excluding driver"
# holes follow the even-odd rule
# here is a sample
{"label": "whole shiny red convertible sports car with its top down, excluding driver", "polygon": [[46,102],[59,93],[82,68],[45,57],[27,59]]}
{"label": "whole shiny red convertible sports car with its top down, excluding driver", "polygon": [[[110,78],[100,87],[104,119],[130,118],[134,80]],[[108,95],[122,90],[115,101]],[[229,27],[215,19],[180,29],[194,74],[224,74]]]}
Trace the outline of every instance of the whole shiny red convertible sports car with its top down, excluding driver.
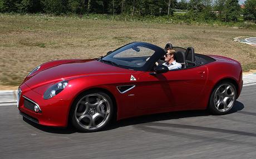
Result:
{"label": "whole shiny red convertible sports car with its top down, excluding driver", "polygon": [[18,88],[23,117],[46,126],[71,123],[80,131],[104,129],[112,120],[168,111],[222,115],[242,86],[238,61],[173,47],[181,69],[169,70],[166,50],[134,42],[97,59],[56,60],[37,66]]}

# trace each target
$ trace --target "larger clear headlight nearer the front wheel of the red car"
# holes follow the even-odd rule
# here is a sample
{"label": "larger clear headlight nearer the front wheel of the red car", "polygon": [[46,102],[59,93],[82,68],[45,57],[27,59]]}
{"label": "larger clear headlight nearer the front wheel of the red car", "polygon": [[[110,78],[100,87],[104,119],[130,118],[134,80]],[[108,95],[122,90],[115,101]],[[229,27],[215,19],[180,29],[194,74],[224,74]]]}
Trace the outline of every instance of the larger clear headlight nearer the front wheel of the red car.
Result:
{"label": "larger clear headlight nearer the front wheel of the red car", "polygon": [[56,96],[59,94],[63,89],[66,88],[68,81],[63,80],[60,83],[56,83],[52,85],[50,88],[46,90],[46,92],[43,94],[43,99],[50,99],[53,96]]}

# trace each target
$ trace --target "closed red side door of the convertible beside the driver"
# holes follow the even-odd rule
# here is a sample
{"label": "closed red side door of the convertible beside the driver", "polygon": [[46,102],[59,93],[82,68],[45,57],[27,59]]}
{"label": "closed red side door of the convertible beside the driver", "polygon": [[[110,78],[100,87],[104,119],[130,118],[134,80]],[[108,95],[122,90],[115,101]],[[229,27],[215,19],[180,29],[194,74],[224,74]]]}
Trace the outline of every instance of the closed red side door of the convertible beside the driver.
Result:
{"label": "closed red side door of the convertible beside the driver", "polygon": [[137,107],[148,110],[193,105],[200,100],[207,75],[205,66],[156,75],[141,73],[136,84]]}

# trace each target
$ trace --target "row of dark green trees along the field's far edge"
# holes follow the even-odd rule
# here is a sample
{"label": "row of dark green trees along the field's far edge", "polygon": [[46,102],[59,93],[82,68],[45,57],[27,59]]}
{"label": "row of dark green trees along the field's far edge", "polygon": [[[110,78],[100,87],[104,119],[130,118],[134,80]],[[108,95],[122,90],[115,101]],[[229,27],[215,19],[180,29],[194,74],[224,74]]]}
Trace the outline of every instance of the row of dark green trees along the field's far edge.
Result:
{"label": "row of dark green trees along the field's far edge", "polygon": [[130,16],[172,16],[177,9],[190,18],[256,22],[256,0],[244,7],[238,0],[0,0],[1,13],[125,14]]}

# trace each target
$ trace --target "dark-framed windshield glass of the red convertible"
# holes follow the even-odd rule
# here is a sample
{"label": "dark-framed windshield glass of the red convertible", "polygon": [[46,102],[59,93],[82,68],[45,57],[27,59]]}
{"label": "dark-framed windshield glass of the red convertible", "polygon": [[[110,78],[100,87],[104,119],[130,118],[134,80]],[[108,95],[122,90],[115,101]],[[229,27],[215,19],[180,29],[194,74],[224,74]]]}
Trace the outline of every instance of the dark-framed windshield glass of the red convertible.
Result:
{"label": "dark-framed windshield glass of the red convertible", "polygon": [[114,50],[101,58],[100,61],[128,69],[135,69],[144,66],[154,53],[154,48],[144,44],[131,43]]}

